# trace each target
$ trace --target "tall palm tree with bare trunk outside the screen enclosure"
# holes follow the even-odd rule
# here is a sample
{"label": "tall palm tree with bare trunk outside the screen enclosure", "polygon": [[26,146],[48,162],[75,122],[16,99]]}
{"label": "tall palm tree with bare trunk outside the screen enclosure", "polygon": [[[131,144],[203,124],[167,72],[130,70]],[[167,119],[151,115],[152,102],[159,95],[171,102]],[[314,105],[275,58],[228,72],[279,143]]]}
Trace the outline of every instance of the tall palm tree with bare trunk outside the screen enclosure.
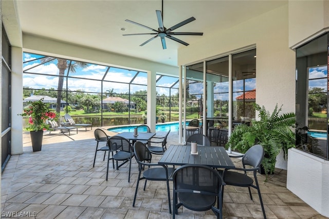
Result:
{"label": "tall palm tree with bare trunk outside the screen enclosure", "polygon": [[75,73],[77,68],[85,69],[88,64],[84,62],[77,62],[63,58],[54,58],[54,57],[44,57],[41,59],[43,64],[50,64],[52,62],[57,61],[57,68],[59,69],[59,79],[58,79],[58,87],[57,87],[57,102],[56,102],[56,113],[60,114],[61,111],[61,96],[63,90],[63,82],[64,82],[64,73],[68,68],[68,71],[71,73]]}

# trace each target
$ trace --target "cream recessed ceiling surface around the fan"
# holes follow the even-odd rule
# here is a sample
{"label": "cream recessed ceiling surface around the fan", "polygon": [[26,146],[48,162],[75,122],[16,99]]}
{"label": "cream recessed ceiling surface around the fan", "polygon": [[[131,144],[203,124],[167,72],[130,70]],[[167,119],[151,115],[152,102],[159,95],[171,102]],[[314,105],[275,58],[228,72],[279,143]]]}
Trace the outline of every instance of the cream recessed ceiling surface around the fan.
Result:
{"label": "cream recessed ceiling surface around the fan", "polygon": [[[226,29],[286,4],[286,1],[206,1],[163,2],[163,24],[169,28],[194,16],[193,21],[176,32],[203,32],[204,36],[176,36],[189,44],[218,29]],[[163,50],[160,38],[144,46],[152,35],[122,36],[152,31],[125,22],[125,19],[158,28],[155,10],[160,0],[149,1],[17,1],[18,16],[24,33],[71,44],[148,59],[177,66],[177,50],[185,47],[166,38]],[[120,28],[126,28],[121,31]]]}

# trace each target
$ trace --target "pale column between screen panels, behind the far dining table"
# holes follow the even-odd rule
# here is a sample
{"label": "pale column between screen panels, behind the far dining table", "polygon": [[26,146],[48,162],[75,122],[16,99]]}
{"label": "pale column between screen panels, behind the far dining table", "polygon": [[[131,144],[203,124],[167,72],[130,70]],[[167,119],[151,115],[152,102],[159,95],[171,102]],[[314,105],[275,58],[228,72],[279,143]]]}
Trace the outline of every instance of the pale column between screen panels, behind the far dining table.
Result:
{"label": "pale column between screen panels, behind the far dining table", "polygon": [[148,126],[155,132],[156,117],[156,72],[148,71]]}

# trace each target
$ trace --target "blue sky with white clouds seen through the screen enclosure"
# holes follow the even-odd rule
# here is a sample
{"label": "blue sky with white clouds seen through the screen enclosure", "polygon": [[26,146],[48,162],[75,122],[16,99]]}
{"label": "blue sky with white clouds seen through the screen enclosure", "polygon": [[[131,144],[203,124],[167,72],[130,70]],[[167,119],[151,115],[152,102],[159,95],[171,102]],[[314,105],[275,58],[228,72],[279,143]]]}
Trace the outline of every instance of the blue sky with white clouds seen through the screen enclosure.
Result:
{"label": "blue sky with white clouds seen through the screen enclosure", "polygon": [[[23,86],[30,87],[34,89],[50,89],[54,88],[57,89],[58,86],[58,77],[54,75],[59,74],[59,69],[57,68],[56,64],[57,61],[46,65],[40,65],[40,59],[36,61],[31,61],[35,58],[43,57],[42,55],[35,55],[31,53],[24,53],[23,54],[23,62],[27,62],[23,64],[23,70],[28,70],[28,72],[33,73],[40,73],[39,74],[23,74]],[[70,76],[79,77],[79,78],[70,78],[68,80],[68,87],[70,90],[84,90],[86,92],[101,92],[101,82],[100,81],[92,81],[86,79],[99,79],[101,80],[107,70],[107,66],[97,65],[97,64],[88,64],[88,67],[85,69],[77,69],[75,73],[70,73]],[[108,73],[105,76],[106,81],[113,81],[113,82],[124,82],[129,83],[132,81],[132,78],[136,75],[137,71],[134,70],[126,70],[111,67]],[[47,75],[41,75],[47,74]],[[66,74],[66,72],[65,72]],[[86,78],[86,79],[82,79]],[[172,86],[178,78],[173,77],[162,77],[160,81],[157,83],[158,86],[162,87],[170,87]],[[133,83],[141,84],[141,85],[131,85],[131,92],[134,93],[138,90],[147,90],[147,73],[139,72],[138,76],[134,79]],[[64,86],[66,85],[66,79],[64,79]],[[177,87],[176,85],[175,87]],[[114,89],[116,93],[125,93],[129,91],[129,85],[123,83],[111,83],[111,82],[104,82],[103,84],[103,92],[106,90]],[[171,94],[176,93],[178,90],[172,90]],[[165,95],[169,95],[169,89],[166,88],[157,88],[157,92]]]}

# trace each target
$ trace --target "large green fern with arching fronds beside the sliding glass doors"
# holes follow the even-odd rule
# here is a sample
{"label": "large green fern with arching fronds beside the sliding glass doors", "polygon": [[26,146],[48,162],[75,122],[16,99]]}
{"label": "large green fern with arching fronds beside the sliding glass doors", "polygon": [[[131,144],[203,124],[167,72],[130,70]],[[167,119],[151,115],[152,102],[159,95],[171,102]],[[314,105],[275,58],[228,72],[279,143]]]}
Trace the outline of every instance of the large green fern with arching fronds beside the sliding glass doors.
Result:
{"label": "large green fern with arching fronds beside the sliding glass doors", "polygon": [[[281,106],[282,107],[282,106]],[[279,115],[281,107],[278,104],[272,113],[266,111],[265,107],[255,104],[259,111],[260,120],[253,120],[250,126],[245,124],[235,126],[231,133],[226,148],[231,147],[241,153],[245,153],[255,144],[264,148],[264,160],[261,168],[263,173],[272,174],[275,170],[276,157],[283,151],[284,158],[287,158],[289,148],[295,147],[296,115],[294,112]]]}

